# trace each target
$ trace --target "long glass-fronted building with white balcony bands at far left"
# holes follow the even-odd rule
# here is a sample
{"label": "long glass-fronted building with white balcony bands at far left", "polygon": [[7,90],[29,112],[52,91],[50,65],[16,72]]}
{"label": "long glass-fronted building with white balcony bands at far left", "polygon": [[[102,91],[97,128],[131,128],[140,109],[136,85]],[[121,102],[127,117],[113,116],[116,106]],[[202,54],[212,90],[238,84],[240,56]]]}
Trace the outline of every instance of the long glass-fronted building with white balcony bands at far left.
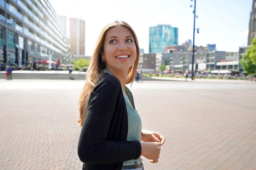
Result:
{"label": "long glass-fronted building with white balcony bands at far left", "polygon": [[63,25],[48,0],[0,0],[0,60],[5,65],[65,63]]}

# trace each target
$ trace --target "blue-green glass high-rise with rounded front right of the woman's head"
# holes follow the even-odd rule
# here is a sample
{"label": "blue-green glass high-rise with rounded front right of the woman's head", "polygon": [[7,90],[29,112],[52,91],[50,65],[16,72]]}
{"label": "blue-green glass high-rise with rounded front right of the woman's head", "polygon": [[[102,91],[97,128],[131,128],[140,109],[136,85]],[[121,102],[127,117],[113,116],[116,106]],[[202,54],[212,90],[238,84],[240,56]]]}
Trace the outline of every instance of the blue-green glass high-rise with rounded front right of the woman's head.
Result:
{"label": "blue-green glass high-rise with rounded front right of the woman's head", "polygon": [[178,44],[179,29],[171,25],[149,27],[149,53],[161,53],[166,46]]}

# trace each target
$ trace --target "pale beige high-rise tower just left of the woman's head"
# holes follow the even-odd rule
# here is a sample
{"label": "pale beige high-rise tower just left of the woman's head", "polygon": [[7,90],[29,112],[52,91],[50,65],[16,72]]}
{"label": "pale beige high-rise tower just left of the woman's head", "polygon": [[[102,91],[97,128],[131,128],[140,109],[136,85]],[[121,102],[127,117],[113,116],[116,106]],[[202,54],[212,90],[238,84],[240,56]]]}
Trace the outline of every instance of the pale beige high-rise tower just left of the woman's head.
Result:
{"label": "pale beige high-rise tower just left of the woman's head", "polygon": [[76,56],[85,55],[85,21],[70,18],[70,49]]}

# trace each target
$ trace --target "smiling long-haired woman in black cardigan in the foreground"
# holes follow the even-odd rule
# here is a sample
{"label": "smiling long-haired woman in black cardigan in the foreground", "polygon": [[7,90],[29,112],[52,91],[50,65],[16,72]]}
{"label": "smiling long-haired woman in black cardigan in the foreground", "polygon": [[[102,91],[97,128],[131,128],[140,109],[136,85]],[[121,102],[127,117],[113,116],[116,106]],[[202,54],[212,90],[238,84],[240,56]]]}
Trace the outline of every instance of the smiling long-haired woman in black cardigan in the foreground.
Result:
{"label": "smiling long-haired woman in black cardigan in the foreground", "polygon": [[126,87],[135,78],[139,54],[135,32],[126,22],[111,22],[101,31],[79,99],[83,170],[143,170],[141,156],[158,161],[165,139],[141,130]]}

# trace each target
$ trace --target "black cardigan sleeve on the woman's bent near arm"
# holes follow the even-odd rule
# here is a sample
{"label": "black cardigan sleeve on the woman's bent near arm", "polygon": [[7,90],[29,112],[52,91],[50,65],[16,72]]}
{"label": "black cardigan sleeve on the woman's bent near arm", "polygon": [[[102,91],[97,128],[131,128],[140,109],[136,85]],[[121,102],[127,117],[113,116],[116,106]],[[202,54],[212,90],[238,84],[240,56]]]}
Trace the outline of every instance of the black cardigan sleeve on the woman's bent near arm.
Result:
{"label": "black cardigan sleeve on the woman's bent near arm", "polygon": [[82,162],[107,164],[139,158],[139,141],[112,141],[107,138],[120,95],[119,81],[104,80],[94,88],[78,144]]}

